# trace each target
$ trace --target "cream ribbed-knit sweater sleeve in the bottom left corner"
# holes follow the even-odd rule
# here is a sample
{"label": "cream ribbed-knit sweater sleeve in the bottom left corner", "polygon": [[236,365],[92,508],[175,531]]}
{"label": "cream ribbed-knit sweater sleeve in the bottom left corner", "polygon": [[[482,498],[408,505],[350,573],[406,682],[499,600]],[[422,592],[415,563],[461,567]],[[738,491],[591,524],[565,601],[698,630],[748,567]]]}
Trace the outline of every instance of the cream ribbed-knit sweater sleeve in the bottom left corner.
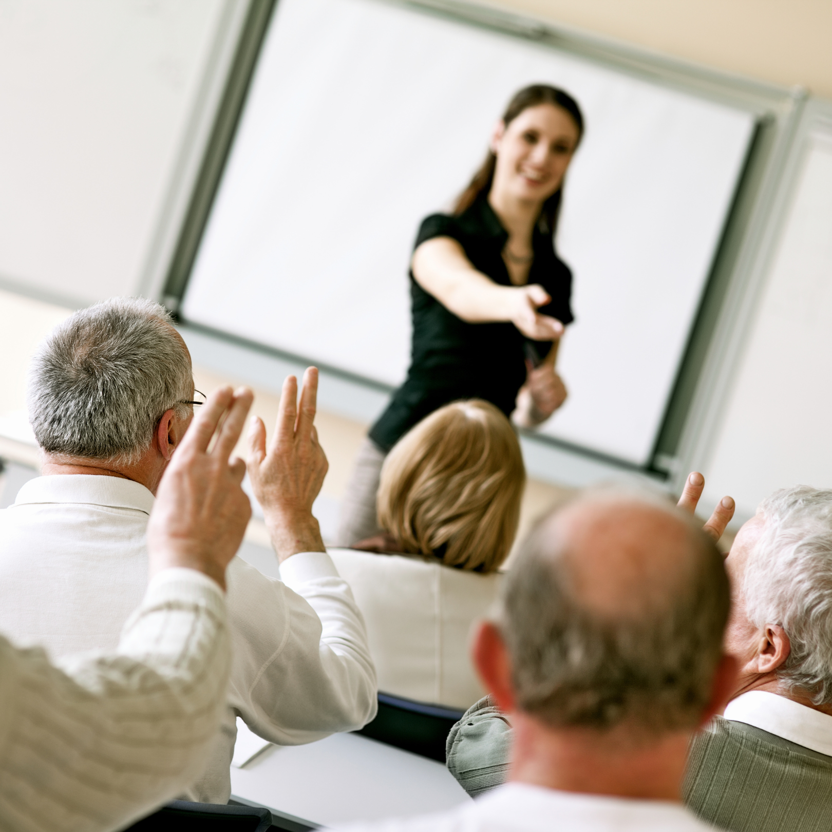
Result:
{"label": "cream ribbed-knit sweater sleeve in the bottom left corner", "polygon": [[229,666],[223,594],[190,569],[150,582],[115,654],[55,666],[0,638],[0,827],[112,829],[180,794],[205,765]]}

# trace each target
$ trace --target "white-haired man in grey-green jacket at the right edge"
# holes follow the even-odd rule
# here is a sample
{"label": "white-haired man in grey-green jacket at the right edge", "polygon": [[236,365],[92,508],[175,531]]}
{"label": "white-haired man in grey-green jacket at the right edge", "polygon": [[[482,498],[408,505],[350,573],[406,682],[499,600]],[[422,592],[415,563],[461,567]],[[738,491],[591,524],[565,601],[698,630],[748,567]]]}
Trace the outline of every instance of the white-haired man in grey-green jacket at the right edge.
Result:
{"label": "white-haired man in grey-green jacket at the right edge", "polygon": [[[691,742],[684,800],[726,830],[830,830],[832,491],[772,494],[740,529],[726,568],[726,647],[740,674],[724,718]],[[482,701],[455,726],[448,765],[480,794],[505,779],[511,740],[508,718]]]}

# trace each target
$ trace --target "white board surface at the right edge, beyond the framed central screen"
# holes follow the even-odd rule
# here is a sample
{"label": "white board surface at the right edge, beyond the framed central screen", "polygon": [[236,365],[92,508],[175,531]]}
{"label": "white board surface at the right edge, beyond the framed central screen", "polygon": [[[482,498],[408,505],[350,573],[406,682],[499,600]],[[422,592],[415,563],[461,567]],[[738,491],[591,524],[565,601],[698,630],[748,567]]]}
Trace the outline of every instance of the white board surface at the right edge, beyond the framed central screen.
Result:
{"label": "white board surface at the right edge, beyond the framed central screen", "polygon": [[[777,488],[832,488],[832,124],[809,136],[706,482],[755,513]],[[717,496],[718,495],[718,496]]]}

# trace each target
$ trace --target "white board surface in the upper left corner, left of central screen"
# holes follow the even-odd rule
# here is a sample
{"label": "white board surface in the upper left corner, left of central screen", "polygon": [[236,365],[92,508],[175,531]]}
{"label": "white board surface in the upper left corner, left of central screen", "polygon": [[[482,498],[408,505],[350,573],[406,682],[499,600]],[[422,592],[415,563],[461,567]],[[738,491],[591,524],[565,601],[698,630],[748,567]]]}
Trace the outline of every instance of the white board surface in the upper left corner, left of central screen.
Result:
{"label": "white board surface in the upper left corner, left of central screen", "polygon": [[142,290],[226,0],[0,3],[0,279]]}

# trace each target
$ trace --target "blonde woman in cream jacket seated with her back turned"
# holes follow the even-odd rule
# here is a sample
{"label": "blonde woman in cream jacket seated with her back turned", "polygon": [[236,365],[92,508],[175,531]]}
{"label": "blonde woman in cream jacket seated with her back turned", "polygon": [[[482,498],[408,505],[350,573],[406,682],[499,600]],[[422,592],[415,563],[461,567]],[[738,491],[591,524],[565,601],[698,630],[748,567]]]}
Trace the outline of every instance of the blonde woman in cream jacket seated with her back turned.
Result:
{"label": "blonde woman in cream jacket seated with her back turned", "polygon": [[330,552],[364,614],[379,691],[456,709],[483,696],[468,630],[498,591],[525,479],[508,418],[480,399],[438,409],[392,448],[384,532]]}

